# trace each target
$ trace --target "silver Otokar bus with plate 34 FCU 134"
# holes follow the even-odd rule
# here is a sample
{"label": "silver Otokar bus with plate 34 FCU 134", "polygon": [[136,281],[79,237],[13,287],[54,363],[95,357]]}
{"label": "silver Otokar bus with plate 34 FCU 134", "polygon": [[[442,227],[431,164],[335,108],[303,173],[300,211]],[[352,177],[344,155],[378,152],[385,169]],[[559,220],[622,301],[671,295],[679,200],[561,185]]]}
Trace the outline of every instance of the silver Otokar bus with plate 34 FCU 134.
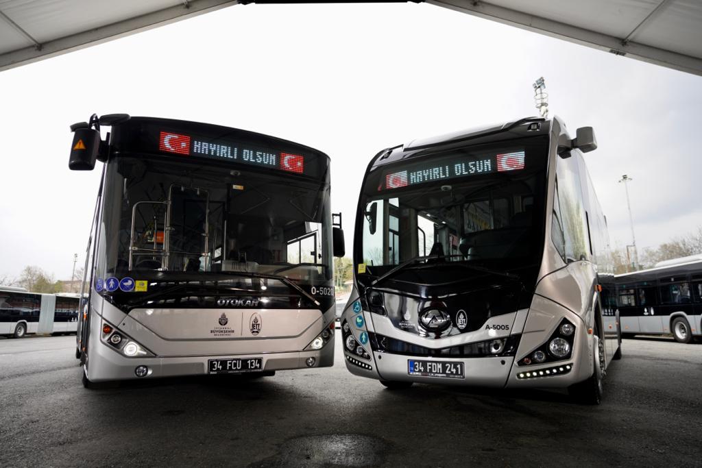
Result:
{"label": "silver Otokar bus with plate 34 FCU 134", "polygon": [[[100,126],[111,127],[105,139]],[[77,337],[86,387],[333,364],[343,233],[332,225],[329,156],[126,114],[72,131],[71,169],[105,163]]]}

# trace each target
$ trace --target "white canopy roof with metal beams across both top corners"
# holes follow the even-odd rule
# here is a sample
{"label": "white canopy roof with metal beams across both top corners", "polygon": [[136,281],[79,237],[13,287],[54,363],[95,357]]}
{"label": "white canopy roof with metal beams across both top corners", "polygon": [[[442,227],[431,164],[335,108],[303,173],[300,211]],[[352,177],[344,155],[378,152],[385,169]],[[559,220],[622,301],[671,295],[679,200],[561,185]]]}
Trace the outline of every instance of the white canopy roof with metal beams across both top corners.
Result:
{"label": "white canopy roof with metal beams across both top corners", "polygon": [[[0,70],[237,3],[256,0],[0,0]],[[702,75],[701,0],[427,3]]]}

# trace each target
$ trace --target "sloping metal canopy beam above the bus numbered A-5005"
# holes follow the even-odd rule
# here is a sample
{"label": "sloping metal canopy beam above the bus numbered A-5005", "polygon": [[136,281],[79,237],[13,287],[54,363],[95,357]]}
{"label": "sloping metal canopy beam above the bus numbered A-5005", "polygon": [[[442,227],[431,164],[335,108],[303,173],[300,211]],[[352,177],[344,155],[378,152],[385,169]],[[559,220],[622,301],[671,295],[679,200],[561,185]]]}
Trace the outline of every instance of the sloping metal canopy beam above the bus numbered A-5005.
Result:
{"label": "sloping metal canopy beam above the bus numbered A-5005", "polygon": [[[638,44],[637,42],[627,38],[617,38],[600,34],[590,29],[583,29],[573,25],[567,25],[562,22],[548,20],[528,13],[511,10],[489,4],[486,1],[479,0],[426,0],[428,4],[443,6],[461,13],[478,16],[504,23],[506,25],[516,26],[528,31],[546,34],[547,36],[557,39],[581,44],[621,55],[644,62],[662,65],[681,72],[687,72],[702,76],[702,58],[683,55],[671,51],[665,51],[661,48]],[[660,6],[660,5],[659,5]],[[657,8],[656,8],[657,9]],[[647,18],[648,20],[649,18]],[[702,26],[701,26],[702,27]],[[638,28],[637,28],[638,29]],[[634,31],[633,31],[634,32]],[[633,32],[629,36],[633,36]]]}

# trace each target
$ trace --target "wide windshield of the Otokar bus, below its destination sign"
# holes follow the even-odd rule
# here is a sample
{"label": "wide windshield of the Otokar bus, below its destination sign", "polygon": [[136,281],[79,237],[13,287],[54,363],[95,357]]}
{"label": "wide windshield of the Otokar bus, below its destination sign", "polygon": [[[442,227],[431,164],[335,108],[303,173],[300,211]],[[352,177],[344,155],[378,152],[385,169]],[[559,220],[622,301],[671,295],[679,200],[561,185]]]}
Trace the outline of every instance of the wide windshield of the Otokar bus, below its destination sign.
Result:
{"label": "wide windshield of the Otokar bus, below its destination sign", "polygon": [[330,229],[328,173],[282,180],[246,166],[119,155],[106,168],[98,277],[235,272],[330,284]]}

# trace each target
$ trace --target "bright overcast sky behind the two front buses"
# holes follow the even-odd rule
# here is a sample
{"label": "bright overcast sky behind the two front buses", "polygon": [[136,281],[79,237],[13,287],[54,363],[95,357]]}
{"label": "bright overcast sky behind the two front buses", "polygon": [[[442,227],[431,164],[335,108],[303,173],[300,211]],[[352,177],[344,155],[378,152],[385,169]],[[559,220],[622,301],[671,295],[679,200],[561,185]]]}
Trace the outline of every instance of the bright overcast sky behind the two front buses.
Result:
{"label": "bright overcast sky behind the two front buses", "polygon": [[[702,225],[702,77],[428,4],[225,8],[0,72],[0,276],[84,261],[100,171],[72,172],[69,125],[96,112],[218,123],[321,149],[347,252],[364,169],[414,138],[550,114],[595,128],[585,154],[613,246]],[[99,165],[100,163],[98,163]],[[99,166],[98,166],[99,168]]]}

